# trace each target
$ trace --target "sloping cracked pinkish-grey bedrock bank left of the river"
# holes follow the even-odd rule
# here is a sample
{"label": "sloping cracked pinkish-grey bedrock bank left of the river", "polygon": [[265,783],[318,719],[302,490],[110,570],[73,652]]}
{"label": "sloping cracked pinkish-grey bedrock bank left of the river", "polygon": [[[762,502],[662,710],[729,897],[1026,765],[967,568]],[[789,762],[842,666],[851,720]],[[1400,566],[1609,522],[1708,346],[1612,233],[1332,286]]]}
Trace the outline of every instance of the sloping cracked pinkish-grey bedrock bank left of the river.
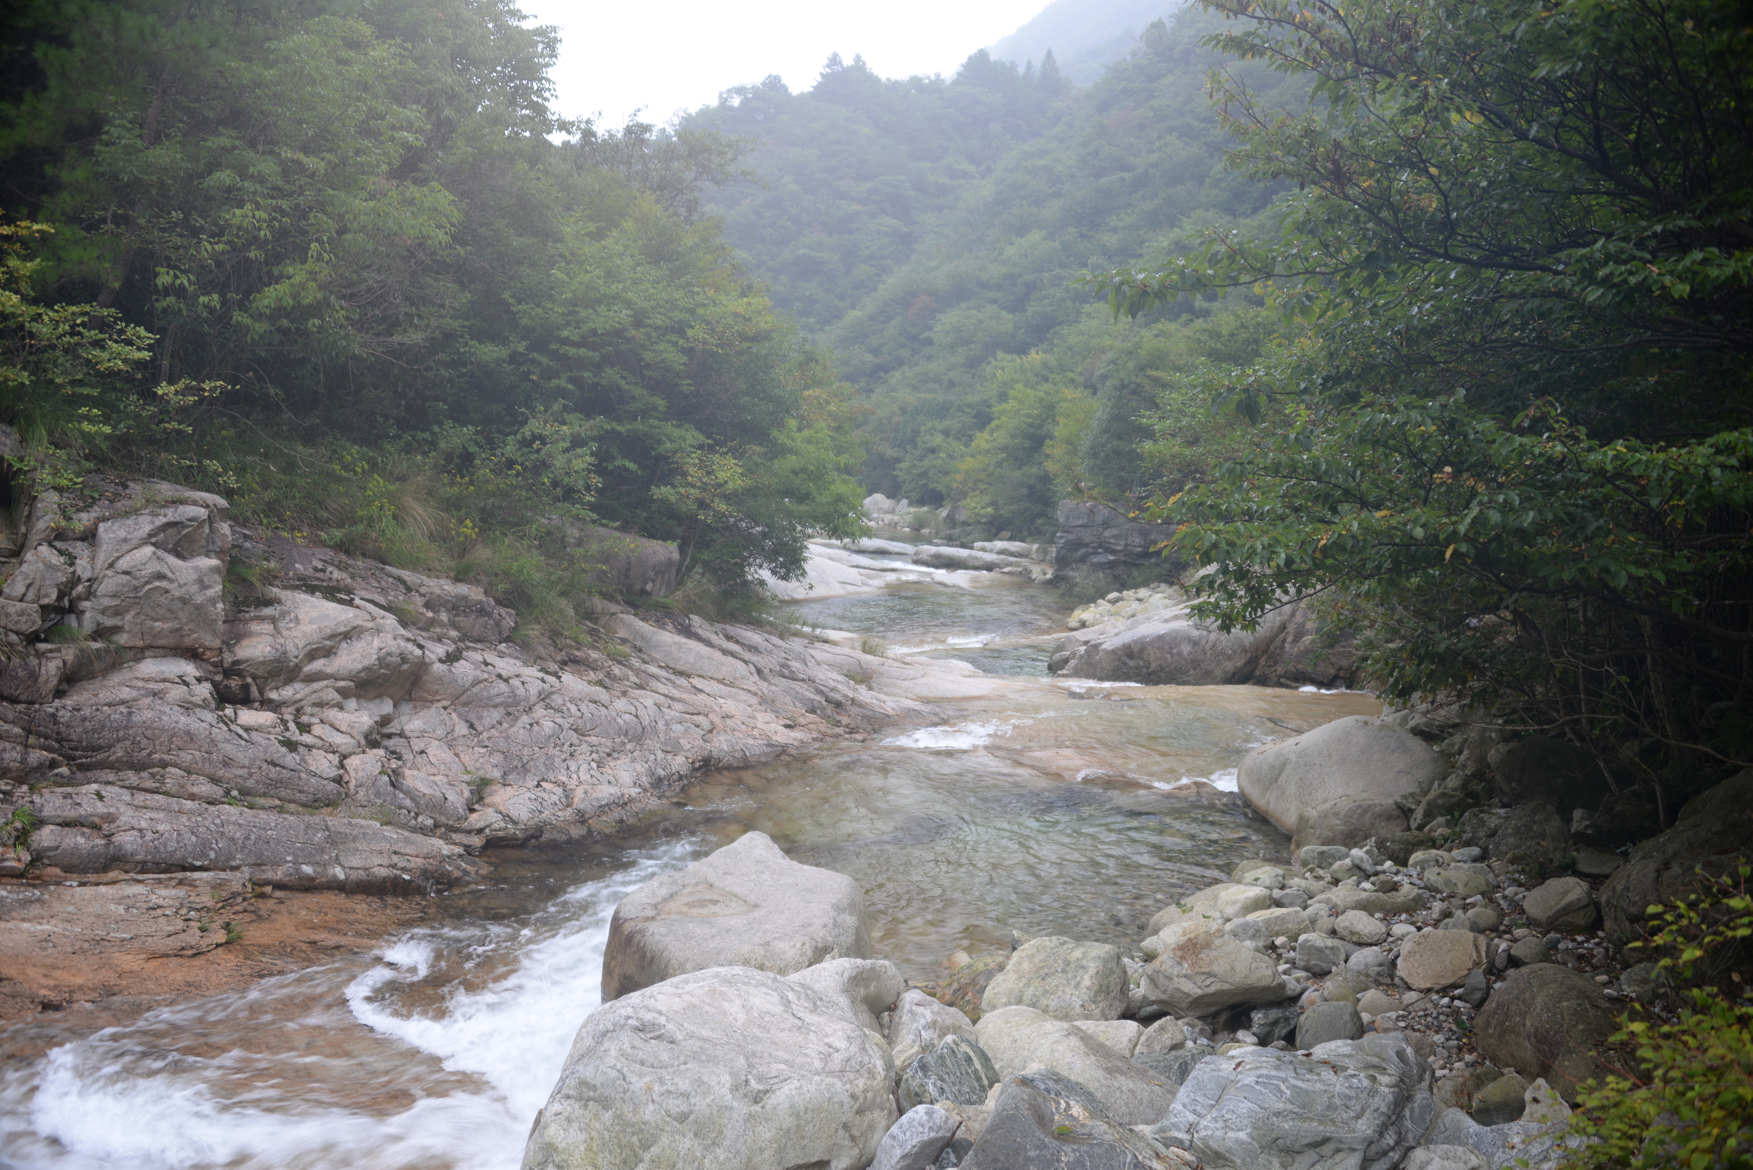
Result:
{"label": "sloping cracked pinkish-grey bedrock bank left of the river", "polygon": [[[663,552],[617,571],[650,585]],[[7,963],[0,998],[65,1002],[86,984],[54,970],[249,937],[231,902],[270,888],[475,881],[484,846],[607,834],[699,769],[929,720],[922,699],[994,685],[598,610],[561,648],[477,587],[254,532],[217,496],[46,494],[0,590],[0,921],[42,970]]]}

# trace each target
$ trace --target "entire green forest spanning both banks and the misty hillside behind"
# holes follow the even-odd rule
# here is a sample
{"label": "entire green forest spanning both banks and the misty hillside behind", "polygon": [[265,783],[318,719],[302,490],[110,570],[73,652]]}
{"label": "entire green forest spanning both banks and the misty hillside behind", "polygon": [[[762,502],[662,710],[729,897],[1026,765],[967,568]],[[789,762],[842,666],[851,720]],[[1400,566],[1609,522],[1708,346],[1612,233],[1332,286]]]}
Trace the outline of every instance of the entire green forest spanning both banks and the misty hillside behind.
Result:
{"label": "entire green forest spanning both banks and the misty hillside behind", "polygon": [[612,130],[507,4],[26,7],[12,475],[216,487],[561,620],[568,518],[722,587],[869,490],[964,539],[1101,497],[1217,620],[1313,594],[1395,697],[1704,774],[1753,739],[1737,11],[1213,0],[1089,86],[836,56]]}

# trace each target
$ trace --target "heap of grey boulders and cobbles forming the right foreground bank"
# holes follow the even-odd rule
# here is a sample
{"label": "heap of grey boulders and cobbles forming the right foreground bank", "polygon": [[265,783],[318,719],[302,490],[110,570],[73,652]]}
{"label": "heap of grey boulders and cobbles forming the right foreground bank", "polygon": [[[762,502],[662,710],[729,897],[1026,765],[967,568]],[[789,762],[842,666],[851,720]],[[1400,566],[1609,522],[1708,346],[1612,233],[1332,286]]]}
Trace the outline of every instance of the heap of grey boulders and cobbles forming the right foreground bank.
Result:
{"label": "heap of grey boulders and cobbles forming the right foreground bank", "polygon": [[[1380,741],[1366,771],[1441,758],[1402,723],[1432,730],[1327,739]],[[1339,755],[1257,751],[1259,799],[1329,795]],[[1581,1082],[1625,1060],[1604,1049],[1622,1011],[1665,1011],[1615,916],[1727,844],[1753,772],[1608,862],[1529,851],[1511,825],[1550,806],[1478,811],[1499,823],[1243,862],[1166,897],[1132,948],[1013,935],[913,986],[871,956],[855,883],[749,834],[615,911],[605,1005],[524,1166],[1553,1166]]]}

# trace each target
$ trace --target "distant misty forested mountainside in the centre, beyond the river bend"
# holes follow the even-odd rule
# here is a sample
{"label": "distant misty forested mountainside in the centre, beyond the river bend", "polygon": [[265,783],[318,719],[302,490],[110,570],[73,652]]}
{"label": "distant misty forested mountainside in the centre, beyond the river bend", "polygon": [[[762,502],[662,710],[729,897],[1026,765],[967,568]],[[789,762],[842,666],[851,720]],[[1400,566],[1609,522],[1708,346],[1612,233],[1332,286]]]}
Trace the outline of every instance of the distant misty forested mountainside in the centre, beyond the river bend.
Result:
{"label": "distant misty forested mountainside in the centre, beyond the river bend", "polygon": [[1164,256],[1190,224],[1257,215],[1280,191],[1224,168],[1208,74],[1231,68],[1290,107],[1302,84],[1201,49],[1218,23],[1157,21],[1085,89],[987,53],[948,82],[831,63],[808,93],[733,89],[689,119],[761,138],[750,166],[764,186],[708,203],[859,387],[866,489],[1050,534],[1062,496],[1143,487],[1138,417],[1166,377],[1259,347],[1260,322],[1190,329],[1211,307],[1117,328],[1075,287]]}

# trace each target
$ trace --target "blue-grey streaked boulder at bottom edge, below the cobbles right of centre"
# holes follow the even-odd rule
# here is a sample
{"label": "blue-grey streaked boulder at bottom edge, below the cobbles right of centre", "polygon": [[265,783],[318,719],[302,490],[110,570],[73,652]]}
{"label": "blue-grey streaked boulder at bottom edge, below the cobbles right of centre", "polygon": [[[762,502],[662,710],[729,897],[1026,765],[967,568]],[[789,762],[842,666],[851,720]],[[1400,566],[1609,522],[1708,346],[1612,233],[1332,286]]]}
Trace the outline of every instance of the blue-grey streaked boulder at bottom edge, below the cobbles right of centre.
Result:
{"label": "blue-grey streaked boulder at bottom edge, below the cobbles right of centre", "polygon": [[1390,1032],[1203,1060],[1150,1135],[1208,1170],[1390,1170],[1434,1114],[1430,1065]]}

